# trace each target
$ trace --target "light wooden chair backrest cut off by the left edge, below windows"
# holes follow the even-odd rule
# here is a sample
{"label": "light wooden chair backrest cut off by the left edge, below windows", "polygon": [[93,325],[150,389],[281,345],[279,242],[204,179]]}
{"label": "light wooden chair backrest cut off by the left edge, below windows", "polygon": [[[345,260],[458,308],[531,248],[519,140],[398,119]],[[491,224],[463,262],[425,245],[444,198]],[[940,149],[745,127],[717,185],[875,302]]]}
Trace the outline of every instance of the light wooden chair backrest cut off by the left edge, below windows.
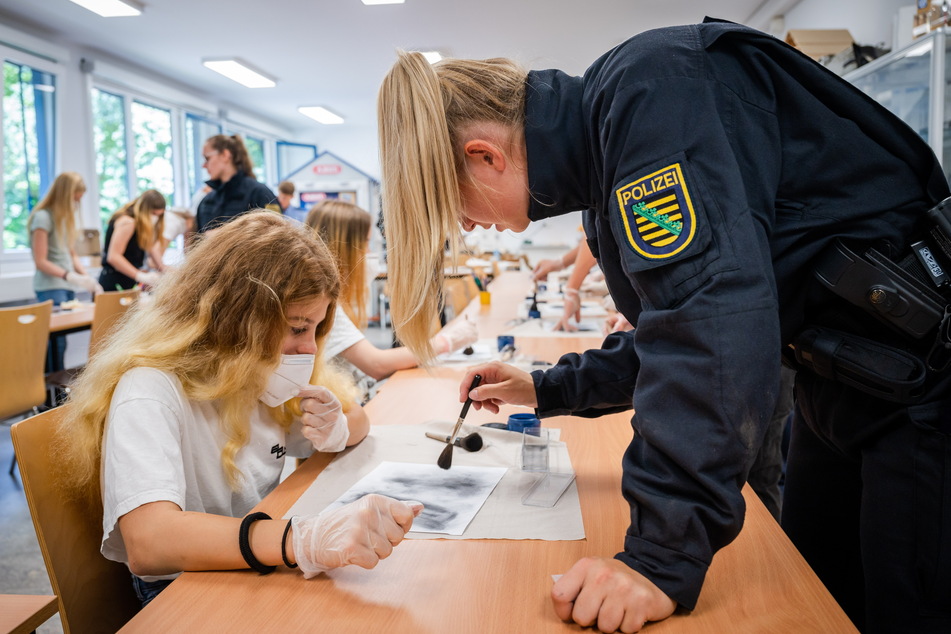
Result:
{"label": "light wooden chair backrest cut off by the left edge, below windows", "polygon": [[43,379],[53,302],[0,309],[0,418],[46,401]]}

